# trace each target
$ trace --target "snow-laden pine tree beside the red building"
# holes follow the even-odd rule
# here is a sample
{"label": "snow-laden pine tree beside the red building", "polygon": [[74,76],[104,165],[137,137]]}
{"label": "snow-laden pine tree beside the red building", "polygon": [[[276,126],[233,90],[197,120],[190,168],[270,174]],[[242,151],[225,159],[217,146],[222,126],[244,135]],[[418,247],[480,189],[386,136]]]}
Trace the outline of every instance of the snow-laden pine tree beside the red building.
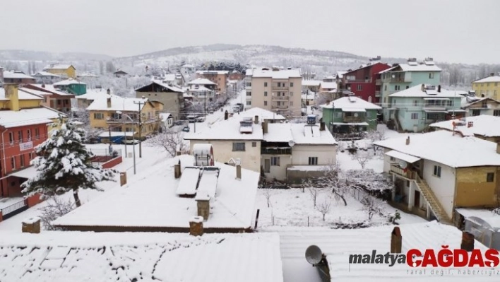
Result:
{"label": "snow-laden pine tree beside the red building", "polygon": [[85,130],[73,124],[61,125],[52,136],[35,148],[35,165],[38,175],[24,182],[23,193],[60,195],[73,191],[76,206],[81,206],[78,189],[96,189],[96,182],[115,181],[116,170],[102,169],[91,163],[93,153],[82,144]]}

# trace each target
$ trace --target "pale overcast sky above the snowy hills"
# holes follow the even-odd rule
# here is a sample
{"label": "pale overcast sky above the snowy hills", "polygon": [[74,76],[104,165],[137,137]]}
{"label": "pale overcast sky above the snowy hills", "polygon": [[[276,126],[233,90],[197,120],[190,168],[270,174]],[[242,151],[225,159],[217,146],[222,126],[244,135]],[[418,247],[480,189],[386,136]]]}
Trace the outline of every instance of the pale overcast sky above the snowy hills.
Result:
{"label": "pale overcast sky above the snowy hills", "polygon": [[0,10],[0,49],[121,57],[228,43],[500,63],[499,0],[22,0]]}

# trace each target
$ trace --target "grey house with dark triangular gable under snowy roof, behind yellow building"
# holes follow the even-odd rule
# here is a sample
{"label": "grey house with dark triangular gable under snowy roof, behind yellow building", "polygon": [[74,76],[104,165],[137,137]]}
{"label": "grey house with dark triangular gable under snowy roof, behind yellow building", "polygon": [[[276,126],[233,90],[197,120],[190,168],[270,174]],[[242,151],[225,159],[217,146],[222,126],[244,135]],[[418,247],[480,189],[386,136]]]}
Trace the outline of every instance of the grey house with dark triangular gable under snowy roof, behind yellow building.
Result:
{"label": "grey house with dark triangular gable under snowy roof, behind yellow building", "polygon": [[181,119],[184,114],[184,91],[160,81],[153,81],[147,86],[136,89],[136,98],[148,98],[163,104],[160,112],[168,112],[174,119]]}

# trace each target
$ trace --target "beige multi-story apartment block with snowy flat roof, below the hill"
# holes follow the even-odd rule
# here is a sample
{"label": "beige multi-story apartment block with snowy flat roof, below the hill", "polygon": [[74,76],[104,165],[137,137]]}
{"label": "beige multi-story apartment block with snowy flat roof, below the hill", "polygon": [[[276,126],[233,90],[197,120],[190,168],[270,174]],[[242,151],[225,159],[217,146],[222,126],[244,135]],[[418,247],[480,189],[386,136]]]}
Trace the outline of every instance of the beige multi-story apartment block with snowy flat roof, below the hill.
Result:
{"label": "beige multi-story apartment block with snowy flat roof, below the hill", "polygon": [[[302,76],[299,69],[254,69],[251,76],[250,106],[261,107],[287,116],[299,116],[301,105]],[[247,99],[248,101],[248,99]]]}

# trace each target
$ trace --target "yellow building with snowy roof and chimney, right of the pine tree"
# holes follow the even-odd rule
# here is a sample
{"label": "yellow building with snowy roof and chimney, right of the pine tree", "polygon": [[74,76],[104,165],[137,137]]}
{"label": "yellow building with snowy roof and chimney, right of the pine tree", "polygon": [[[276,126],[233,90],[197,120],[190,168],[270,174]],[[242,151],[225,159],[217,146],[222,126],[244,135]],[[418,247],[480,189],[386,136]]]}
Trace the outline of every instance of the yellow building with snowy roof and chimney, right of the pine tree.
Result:
{"label": "yellow building with snowy roof and chimney, right of the pine tree", "polygon": [[[123,141],[126,139],[144,139],[157,132],[160,125],[160,102],[140,98],[121,98],[105,95],[95,99],[87,110],[90,112],[90,127],[105,130],[100,137],[103,142]],[[139,115],[140,113],[140,115]],[[141,133],[139,133],[139,121]]]}

